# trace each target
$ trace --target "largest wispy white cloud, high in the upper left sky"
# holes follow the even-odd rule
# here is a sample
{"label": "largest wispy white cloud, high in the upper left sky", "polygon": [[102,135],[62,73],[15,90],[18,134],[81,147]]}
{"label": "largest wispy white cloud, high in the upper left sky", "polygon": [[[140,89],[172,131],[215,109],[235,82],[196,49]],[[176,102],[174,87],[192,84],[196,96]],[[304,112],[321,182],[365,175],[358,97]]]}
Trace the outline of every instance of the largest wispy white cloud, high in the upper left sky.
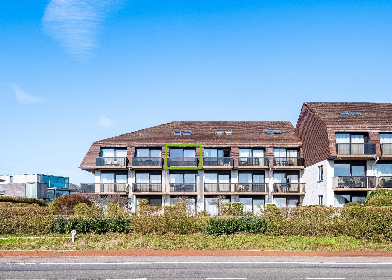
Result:
{"label": "largest wispy white cloud, high in the upper left sky", "polygon": [[83,59],[96,47],[103,20],[122,3],[123,0],[51,0],[42,25],[67,53]]}

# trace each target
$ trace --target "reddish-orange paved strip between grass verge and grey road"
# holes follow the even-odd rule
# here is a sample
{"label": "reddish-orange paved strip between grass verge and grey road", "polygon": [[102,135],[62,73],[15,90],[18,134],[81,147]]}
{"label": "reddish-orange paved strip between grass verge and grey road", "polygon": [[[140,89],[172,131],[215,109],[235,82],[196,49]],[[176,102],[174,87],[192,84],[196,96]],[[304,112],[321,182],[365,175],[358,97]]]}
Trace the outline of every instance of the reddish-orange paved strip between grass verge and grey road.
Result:
{"label": "reddish-orange paved strip between grass verge and grey road", "polygon": [[81,250],[0,251],[0,257],[65,256],[392,256],[392,251]]}

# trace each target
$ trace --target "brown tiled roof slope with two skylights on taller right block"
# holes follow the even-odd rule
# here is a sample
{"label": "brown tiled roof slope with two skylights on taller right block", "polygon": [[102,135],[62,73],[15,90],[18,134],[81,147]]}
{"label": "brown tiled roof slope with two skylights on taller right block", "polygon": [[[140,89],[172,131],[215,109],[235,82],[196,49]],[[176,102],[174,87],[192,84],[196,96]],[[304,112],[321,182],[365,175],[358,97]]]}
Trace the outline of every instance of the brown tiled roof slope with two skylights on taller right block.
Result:
{"label": "brown tiled roof slope with two skylights on taller right block", "polygon": [[[304,103],[326,125],[390,125],[392,103]],[[361,116],[342,116],[358,112]]]}

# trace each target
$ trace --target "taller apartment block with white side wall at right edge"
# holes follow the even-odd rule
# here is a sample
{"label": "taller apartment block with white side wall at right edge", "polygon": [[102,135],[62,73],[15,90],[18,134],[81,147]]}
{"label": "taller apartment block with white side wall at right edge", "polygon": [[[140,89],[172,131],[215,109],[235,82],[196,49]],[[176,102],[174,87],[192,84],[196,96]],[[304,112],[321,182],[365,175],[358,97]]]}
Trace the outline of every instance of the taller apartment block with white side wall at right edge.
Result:
{"label": "taller apartment block with white side wall at right edge", "polygon": [[375,188],[392,188],[392,103],[304,103],[295,133],[304,205],[363,203]]}

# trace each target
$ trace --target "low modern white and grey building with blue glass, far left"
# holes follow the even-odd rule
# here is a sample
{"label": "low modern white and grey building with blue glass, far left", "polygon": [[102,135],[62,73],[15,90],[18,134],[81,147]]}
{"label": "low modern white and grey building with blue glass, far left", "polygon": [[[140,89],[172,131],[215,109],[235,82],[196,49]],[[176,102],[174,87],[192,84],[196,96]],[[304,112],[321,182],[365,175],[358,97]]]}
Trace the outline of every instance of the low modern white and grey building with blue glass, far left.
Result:
{"label": "low modern white and grey building with blue glass, far left", "polygon": [[76,193],[80,187],[69,183],[68,177],[47,174],[14,174],[0,177],[0,195],[42,198],[47,202]]}

